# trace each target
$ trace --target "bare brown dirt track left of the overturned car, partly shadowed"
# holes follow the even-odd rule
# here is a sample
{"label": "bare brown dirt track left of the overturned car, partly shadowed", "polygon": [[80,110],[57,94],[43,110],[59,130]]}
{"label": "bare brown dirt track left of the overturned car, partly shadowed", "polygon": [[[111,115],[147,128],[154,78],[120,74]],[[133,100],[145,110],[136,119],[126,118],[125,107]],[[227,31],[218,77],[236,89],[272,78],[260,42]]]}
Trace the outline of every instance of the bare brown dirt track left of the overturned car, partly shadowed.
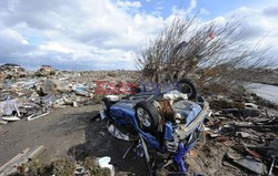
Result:
{"label": "bare brown dirt track left of the overturned car, partly shadowed", "polygon": [[117,175],[147,175],[143,159],[132,154],[122,159],[130,146],[129,142],[113,138],[105,122],[91,121],[100,107],[88,105],[58,108],[38,120],[22,120],[0,126],[8,131],[0,136],[0,165],[24,148],[43,145],[46,151],[39,157],[42,163],[68,157],[81,161],[88,156],[110,156]]}

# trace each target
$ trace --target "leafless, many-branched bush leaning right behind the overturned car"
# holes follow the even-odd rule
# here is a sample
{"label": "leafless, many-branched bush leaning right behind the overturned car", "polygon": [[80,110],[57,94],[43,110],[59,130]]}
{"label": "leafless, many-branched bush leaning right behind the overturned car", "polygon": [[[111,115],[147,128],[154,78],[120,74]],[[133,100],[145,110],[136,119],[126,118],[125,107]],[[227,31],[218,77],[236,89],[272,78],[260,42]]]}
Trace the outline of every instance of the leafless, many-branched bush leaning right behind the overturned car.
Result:
{"label": "leafless, many-branched bush leaning right behind the overturned car", "polygon": [[269,65],[268,48],[261,48],[260,41],[251,48],[241,40],[248,30],[240,22],[230,18],[227,22],[201,23],[198,13],[176,15],[150,41],[137,63],[152,82],[177,81],[196,73],[200,83],[247,76],[240,68],[252,71]]}

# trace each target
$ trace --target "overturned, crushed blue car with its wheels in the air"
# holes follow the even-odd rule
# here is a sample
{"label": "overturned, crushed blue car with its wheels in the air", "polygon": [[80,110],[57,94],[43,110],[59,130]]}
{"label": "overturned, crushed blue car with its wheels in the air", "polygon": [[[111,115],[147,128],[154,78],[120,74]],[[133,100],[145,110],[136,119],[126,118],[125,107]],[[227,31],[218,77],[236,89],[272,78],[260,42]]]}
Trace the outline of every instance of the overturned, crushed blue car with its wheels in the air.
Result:
{"label": "overturned, crushed blue car with its wheels in the air", "polygon": [[185,158],[199,139],[209,105],[198,96],[189,80],[182,80],[165,92],[139,92],[120,97],[107,95],[102,100],[102,120],[117,138],[135,141],[133,148],[145,157],[150,175],[187,174]]}

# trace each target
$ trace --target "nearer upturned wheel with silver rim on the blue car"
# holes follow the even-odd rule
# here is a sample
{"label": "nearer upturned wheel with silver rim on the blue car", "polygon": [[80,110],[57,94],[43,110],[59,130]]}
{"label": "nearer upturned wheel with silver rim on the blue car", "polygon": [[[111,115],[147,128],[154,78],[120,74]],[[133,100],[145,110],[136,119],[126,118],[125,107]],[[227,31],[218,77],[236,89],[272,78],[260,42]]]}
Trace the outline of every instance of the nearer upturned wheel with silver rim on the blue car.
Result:
{"label": "nearer upturned wheel with silver rim on the blue car", "polygon": [[136,118],[139,127],[145,132],[156,132],[159,114],[153,104],[142,101],[136,104]]}

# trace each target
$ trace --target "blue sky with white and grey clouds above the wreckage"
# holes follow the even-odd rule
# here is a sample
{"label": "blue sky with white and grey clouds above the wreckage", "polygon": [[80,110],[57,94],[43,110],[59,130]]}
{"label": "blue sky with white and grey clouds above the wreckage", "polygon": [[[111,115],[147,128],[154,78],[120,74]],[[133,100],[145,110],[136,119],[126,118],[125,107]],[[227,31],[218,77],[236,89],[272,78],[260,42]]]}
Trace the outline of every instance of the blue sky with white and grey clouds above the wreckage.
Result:
{"label": "blue sky with white and grey clouds above the wreckage", "polygon": [[180,8],[200,11],[202,21],[244,18],[246,40],[267,34],[264,43],[277,55],[277,0],[0,0],[0,64],[132,70],[136,54]]}

